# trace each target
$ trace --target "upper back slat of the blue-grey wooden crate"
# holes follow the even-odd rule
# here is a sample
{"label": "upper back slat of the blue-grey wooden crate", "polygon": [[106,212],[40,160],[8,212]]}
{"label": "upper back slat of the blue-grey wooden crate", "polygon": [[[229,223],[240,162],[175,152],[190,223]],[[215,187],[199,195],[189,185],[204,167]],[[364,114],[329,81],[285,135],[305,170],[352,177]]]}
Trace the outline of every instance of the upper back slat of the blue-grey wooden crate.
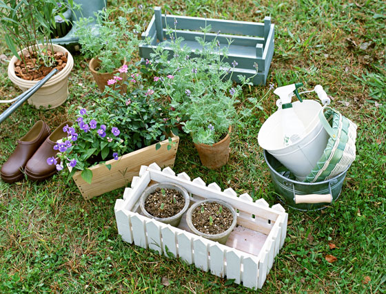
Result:
{"label": "upper back slat of the blue-grey wooden crate", "polygon": [[211,26],[211,32],[221,31],[222,34],[241,34],[250,36],[264,36],[264,24],[249,21],[225,21],[222,19],[205,19],[202,17],[182,17],[178,15],[162,14],[163,28],[174,28],[174,19],[177,21],[177,30],[197,30]]}

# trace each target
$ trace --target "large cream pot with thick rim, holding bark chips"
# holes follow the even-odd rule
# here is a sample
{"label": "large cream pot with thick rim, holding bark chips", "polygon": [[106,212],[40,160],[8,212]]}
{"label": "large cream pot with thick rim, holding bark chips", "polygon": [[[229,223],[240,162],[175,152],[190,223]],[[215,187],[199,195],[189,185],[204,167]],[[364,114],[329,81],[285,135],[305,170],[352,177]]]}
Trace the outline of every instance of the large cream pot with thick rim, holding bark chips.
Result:
{"label": "large cream pot with thick rim, holding bark chips", "polygon": [[[42,45],[39,45],[42,46]],[[52,76],[35,94],[28,99],[28,103],[35,107],[44,108],[56,108],[62,105],[68,97],[68,75],[70,74],[72,67],[74,67],[74,59],[70,52],[61,45],[52,44],[54,52],[67,52],[67,64],[57,74]],[[23,52],[26,52],[23,49]],[[21,52],[19,52],[21,54]],[[17,57],[13,56],[8,65],[8,76],[12,83],[17,85],[23,92],[33,87],[38,81],[27,81],[23,78],[19,78],[14,72],[14,63],[17,61]]]}

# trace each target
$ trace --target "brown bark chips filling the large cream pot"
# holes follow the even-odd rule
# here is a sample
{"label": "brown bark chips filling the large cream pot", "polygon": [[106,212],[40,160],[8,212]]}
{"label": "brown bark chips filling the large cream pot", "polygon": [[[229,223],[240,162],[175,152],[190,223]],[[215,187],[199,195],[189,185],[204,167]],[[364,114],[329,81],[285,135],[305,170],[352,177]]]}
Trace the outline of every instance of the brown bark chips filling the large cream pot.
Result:
{"label": "brown bark chips filling the large cream pot", "polygon": [[[52,56],[52,52],[50,50],[48,50],[48,55]],[[36,57],[36,54],[30,54],[29,52],[26,52],[26,54],[24,54],[24,60],[26,61],[26,64],[24,64],[23,61],[19,61],[18,59],[14,63],[14,73],[19,78],[23,78],[23,80],[40,81],[54,68],[56,68],[59,72],[63,70],[65,65],[67,65],[68,52],[54,52],[55,61],[52,67],[46,67],[43,64],[43,61],[39,63],[39,66],[35,67],[37,61]]]}

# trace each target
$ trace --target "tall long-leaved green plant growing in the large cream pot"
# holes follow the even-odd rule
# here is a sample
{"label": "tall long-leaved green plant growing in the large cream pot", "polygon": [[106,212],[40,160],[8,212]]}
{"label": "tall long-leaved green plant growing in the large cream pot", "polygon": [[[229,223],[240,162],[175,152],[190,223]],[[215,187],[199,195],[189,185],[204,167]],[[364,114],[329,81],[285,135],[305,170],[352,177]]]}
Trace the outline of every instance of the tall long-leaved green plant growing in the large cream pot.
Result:
{"label": "tall long-leaved green plant growing in the large cream pot", "polygon": [[30,69],[40,65],[52,67],[54,58],[48,51],[54,52],[50,39],[56,28],[54,15],[62,15],[63,6],[72,4],[72,0],[68,4],[57,0],[0,1],[0,25],[12,54],[26,65],[25,57],[18,52],[28,48],[34,63]]}

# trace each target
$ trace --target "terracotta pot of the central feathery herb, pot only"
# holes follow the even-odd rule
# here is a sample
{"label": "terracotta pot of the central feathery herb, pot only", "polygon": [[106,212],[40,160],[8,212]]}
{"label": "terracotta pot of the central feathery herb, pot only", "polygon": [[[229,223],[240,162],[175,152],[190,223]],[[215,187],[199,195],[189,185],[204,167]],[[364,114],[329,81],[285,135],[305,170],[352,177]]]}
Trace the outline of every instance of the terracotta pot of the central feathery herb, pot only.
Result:
{"label": "terracotta pot of the central feathery herb, pot only", "polygon": [[227,136],[214,145],[194,143],[197,151],[199,151],[200,160],[205,167],[210,169],[219,169],[227,164],[230,151],[229,145],[231,131],[232,127],[229,127]]}

